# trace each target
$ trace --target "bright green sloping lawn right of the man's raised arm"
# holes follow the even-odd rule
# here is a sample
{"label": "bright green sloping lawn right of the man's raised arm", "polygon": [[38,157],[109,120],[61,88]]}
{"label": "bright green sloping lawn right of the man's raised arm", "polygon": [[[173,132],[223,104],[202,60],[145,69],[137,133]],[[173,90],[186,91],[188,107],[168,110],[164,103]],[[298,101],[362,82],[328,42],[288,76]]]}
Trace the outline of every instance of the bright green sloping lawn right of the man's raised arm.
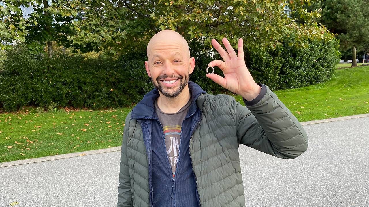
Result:
{"label": "bright green sloping lawn right of the man's raised arm", "polygon": [[300,122],[368,113],[369,66],[338,69],[326,83],[274,92]]}

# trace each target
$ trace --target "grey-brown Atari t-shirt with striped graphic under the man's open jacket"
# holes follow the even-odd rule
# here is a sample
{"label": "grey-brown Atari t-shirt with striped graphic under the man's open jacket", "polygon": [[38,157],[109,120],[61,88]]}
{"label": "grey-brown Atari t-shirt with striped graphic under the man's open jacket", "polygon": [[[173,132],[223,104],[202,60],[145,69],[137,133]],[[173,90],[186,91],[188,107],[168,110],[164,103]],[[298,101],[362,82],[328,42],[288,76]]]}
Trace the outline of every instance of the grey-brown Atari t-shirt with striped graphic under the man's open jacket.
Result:
{"label": "grey-brown Atari t-shirt with striped graphic under the man's open jacket", "polygon": [[182,123],[187,115],[190,103],[191,99],[176,113],[164,113],[159,109],[157,100],[155,100],[155,109],[158,114],[159,121],[163,126],[166,154],[168,155],[169,164],[172,167],[173,178],[175,177],[176,166],[178,163]]}

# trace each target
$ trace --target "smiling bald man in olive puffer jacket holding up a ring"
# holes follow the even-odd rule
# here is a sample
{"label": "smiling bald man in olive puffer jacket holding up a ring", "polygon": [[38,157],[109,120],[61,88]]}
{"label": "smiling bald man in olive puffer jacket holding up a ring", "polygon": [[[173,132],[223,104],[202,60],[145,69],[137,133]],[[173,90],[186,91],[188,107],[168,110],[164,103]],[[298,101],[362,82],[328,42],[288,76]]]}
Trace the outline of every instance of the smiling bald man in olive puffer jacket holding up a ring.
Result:
{"label": "smiling bald man in olive puffer jacket holding up a ring", "polygon": [[[307,149],[296,117],[268,86],[255,83],[226,38],[212,40],[223,75],[206,74],[243,97],[210,95],[189,81],[195,67],[187,41],[177,32],[155,34],[145,68],[154,89],[125,120],[117,207],[242,207],[244,186],[238,146],[293,159]],[[205,70],[204,70],[205,74]]]}

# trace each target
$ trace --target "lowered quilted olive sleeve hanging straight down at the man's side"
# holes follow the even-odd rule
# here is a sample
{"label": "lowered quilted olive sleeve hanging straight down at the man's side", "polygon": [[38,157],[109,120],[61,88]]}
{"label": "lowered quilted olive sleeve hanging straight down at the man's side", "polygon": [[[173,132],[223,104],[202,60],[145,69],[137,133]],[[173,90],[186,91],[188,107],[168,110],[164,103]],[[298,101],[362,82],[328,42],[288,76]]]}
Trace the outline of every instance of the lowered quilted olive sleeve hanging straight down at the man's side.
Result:
{"label": "lowered quilted olive sleeve hanging straight down at the man's side", "polygon": [[122,140],[122,151],[120,155],[120,168],[119,168],[119,186],[118,186],[118,203],[117,207],[131,207],[132,204],[132,193],[131,193],[131,178],[130,169],[128,167],[127,157],[127,138],[128,129],[130,126],[129,120],[131,113],[127,115],[125,119],[125,127],[123,131]]}

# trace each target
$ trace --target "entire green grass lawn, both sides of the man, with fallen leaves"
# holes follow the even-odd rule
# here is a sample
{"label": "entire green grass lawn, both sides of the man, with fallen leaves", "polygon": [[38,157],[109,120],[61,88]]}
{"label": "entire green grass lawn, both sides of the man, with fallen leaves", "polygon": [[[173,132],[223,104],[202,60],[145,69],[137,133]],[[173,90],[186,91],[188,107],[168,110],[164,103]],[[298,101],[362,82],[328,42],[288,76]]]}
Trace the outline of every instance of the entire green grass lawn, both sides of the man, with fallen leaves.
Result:
{"label": "entire green grass lawn, both sides of the man, with fallen leaves", "polygon": [[[369,113],[369,66],[339,69],[327,83],[274,92],[300,122]],[[120,146],[131,109],[1,113],[0,162]]]}

